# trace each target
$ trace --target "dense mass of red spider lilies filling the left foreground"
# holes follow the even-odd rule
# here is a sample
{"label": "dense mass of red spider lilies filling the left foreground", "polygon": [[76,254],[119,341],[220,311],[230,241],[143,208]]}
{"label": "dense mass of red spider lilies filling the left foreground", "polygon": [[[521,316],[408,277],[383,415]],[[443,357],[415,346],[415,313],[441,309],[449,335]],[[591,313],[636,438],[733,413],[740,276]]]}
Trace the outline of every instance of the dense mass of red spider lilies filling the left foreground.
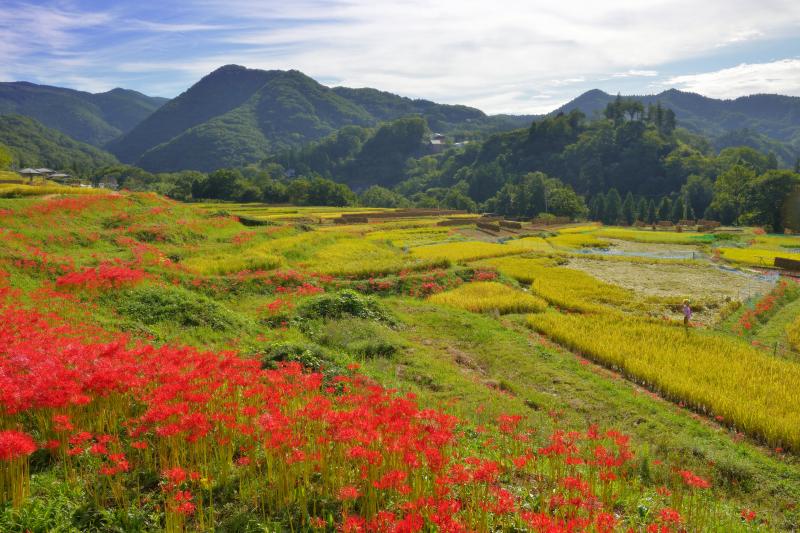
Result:
{"label": "dense mass of red spider lilies filling the left foreground", "polygon": [[[610,531],[633,458],[625,435],[596,427],[557,431],[537,448],[519,415],[498,418],[490,457],[463,454],[456,418],[362,376],[327,384],[297,364],[264,370],[232,353],[93,341],[8,301],[0,305],[0,411],[108,505],[128,476],[161,472],[172,524],[205,512],[209,486],[236,468],[241,498],[267,510],[305,501],[309,527],[332,525],[313,514],[306,495],[316,491],[341,502],[343,531],[460,532],[475,520]],[[25,433],[0,433],[0,458],[34,448]],[[503,486],[509,477],[535,477],[539,489],[516,493]]]}

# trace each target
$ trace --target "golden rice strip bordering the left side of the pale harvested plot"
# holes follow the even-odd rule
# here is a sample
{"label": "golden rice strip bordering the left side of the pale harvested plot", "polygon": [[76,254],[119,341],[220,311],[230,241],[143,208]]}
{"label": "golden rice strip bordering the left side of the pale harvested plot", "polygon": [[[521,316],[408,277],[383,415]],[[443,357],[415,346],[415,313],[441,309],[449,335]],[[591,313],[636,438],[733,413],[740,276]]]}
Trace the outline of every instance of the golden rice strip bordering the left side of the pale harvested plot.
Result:
{"label": "golden rice strip bordering the left side of the pale harvested plot", "polygon": [[554,266],[546,258],[501,257],[477,263],[491,266],[500,273],[531,284],[531,290],[562,309],[581,312],[608,311],[604,305],[618,308],[635,306],[635,293],[593,278],[570,268]]}

